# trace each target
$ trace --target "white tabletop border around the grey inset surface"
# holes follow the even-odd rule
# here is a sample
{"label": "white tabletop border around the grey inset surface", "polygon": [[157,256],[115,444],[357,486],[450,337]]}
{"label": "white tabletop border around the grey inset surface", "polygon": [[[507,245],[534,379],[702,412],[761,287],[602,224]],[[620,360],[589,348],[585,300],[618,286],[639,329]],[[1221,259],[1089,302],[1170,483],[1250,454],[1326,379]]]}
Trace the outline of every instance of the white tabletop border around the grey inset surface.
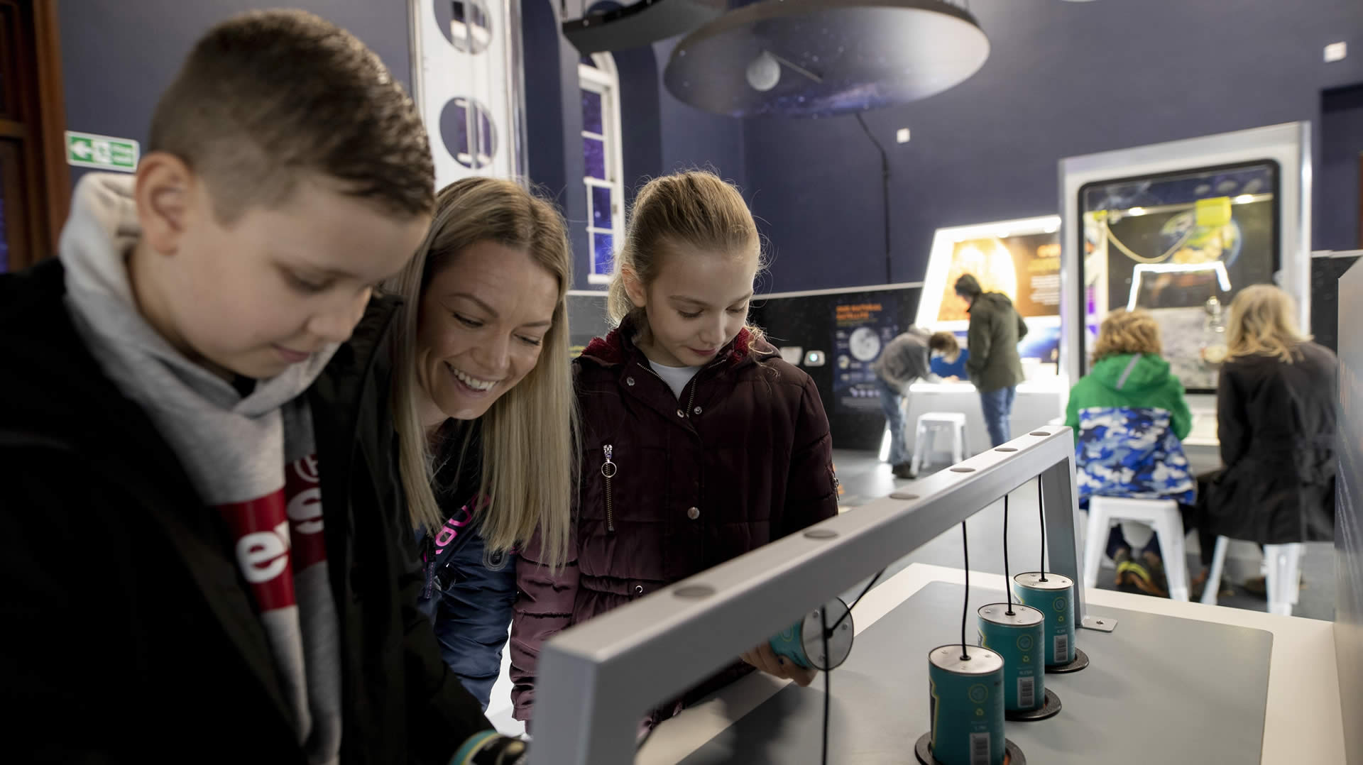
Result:
{"label": "white tabletop border around the grey inset surface", "polygon": [[[912,597],[930,582],[964,584],[961,569],[915,563],[872,589],[856,610],[856,631]],[[970,571],[970,584],[1005,589],[999,574]],[[1268,709],[1264,721],[1264,764],[1344,762],[1344,720],[1334,661],[1334,625],[1298,616],[1276,616],[1221,605],[1182,603],[1104,589],[1086,590],[1089,612],[1103,607],[1145,611],[1183,619],[1220,622],[1273,633]],[[1120,629],[1120,626],[1118,626]],[[822,679],[815,680],[815,687]],[[737,720],[776,695],[788,680],[754,674],[717,697],[668,720],[635,758],[642,765],[675,765]]]}

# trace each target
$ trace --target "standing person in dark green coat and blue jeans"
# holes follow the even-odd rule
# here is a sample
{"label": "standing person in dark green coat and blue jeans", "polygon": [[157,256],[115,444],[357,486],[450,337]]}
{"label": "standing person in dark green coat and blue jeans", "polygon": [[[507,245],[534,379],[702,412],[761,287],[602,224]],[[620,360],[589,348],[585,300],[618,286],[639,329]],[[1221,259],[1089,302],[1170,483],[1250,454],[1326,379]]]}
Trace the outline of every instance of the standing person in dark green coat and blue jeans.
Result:
{"label": "standing person in dark green coat and blue jeans", "polygon": [[1007,295],[984,292],[970,274],[955,280],[955,293],[970,304],[970,329],[965,338],[970,359],[965,370],[975,390],[980,391],[990,442],[999,446],[1011,438],[1013,400],[1018,383],[1026,379],[1018,357],[1018,341],[1026,337],[1026,323]]}

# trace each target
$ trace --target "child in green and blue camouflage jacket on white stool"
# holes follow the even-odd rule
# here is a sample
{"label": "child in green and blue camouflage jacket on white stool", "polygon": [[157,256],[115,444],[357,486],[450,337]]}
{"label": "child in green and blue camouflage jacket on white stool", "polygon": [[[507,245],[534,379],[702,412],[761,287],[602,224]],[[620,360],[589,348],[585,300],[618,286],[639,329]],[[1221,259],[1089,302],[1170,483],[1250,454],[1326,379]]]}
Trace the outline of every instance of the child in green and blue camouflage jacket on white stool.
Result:
{"label": "child in green and blue camouflage jacket on white stool", "polygon": [[[1182,445],[1193,415],[1160,353],[1160,326],[1145,311],[1118,310],[1103,320],[1093,370],[1070,390],[1065,410],[1081,506],[1090,496],[1193,500],[1197,481]],[[1137,547],[1141,555],[1133,558]],[[1159,539],[1148,525],[1114,526],[1107,552],[1119,588],[1168,596]]]}

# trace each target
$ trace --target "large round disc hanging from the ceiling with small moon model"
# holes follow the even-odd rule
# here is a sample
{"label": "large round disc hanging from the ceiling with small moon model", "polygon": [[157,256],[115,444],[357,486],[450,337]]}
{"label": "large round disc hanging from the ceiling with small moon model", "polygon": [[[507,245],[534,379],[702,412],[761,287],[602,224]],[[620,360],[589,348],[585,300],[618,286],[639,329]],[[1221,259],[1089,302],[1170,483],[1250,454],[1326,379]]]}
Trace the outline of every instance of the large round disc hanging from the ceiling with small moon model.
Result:
{"label": "large round disc hanging from the ceiling with small moon model", "polygon": [[988,56],[975,16],[943,0],[763,0],[683,38],[664,82],[717,115],[822,117],[942,93]]}

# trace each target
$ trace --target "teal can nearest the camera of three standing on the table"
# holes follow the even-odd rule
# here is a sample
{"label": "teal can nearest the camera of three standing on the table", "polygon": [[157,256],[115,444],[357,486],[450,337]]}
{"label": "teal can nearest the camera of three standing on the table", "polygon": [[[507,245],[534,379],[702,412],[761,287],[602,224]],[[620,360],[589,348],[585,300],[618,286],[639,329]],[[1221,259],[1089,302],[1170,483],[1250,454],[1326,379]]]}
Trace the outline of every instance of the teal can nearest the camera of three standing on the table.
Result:
{"label": "teal can nearest the camera of three standing on the table", "polygon": [[1003,765],[1003,657],[977,645],[928,653],[932,758],[942,765]]}

